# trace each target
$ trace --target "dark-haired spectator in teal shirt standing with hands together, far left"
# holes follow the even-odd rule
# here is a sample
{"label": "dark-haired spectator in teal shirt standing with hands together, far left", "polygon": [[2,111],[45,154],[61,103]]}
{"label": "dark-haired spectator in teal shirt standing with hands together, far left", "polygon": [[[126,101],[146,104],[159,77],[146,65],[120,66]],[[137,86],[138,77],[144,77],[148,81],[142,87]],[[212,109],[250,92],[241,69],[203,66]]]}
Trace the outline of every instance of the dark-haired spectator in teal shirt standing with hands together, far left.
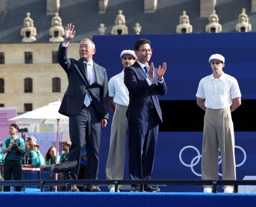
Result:
{"label": "dark-haired spectator in teal shirt standing with hands together, far left", "polygon": [[[4,180],[11,180],[12,173],[14,180],[21,180],[22,170],[20,160],[25,151],[24,139],[17,136],[18,125],[12,123],[9,128],[10,137],[4,139],[2,154],[4,157]],[[10,186],[4,186],[4,191],[10,191]],[[20,191],[20,186],[16,186],[16,191]]]}

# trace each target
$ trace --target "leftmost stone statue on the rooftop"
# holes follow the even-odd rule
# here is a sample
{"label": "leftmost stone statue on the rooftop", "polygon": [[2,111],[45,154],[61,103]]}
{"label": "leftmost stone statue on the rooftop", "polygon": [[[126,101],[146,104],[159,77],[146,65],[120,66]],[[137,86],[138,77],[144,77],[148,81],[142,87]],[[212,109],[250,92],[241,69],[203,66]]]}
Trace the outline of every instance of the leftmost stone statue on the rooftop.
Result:
{"label": "leftmost stone statue on the rooftop", "polygon": [[26,13],[27,17],[24,19],[24,27],[20,30],[22,42],[34,42],[36,41],[36,28],[34,27],[34,21],[30,18],[30,12]]}

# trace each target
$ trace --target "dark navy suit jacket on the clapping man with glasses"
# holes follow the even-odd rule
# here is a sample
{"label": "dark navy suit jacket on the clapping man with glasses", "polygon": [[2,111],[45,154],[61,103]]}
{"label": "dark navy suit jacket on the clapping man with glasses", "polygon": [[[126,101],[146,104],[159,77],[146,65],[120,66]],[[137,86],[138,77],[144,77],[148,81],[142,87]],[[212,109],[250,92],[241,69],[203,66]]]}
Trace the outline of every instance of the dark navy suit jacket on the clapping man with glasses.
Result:
{"label": "dark navy suit jacket on the clapping man with glasses", "polygon": [[146,123],[150,115],[152,102],[156,107],[159,118],[162,120],[162,112],[159,105],[158,94],[164,95],[167,92],[165,82],[158,82],[157,68],[154,68],[154,78],[149,86],[144,69],[135,62],[124,69],[124,84],[129,91],[128,122]]}

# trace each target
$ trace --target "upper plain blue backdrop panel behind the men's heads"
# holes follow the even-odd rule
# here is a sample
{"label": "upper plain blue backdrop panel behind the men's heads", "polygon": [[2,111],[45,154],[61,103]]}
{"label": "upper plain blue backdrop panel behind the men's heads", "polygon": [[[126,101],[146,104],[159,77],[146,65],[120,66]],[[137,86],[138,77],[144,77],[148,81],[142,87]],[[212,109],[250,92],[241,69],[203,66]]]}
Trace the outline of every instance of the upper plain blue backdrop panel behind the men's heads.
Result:
{"label": "upper plain blue backdrop panel behind the men's heads", "polygon": [[94,36],[94,62],[106,68],[108,80],[123,69],[121,52],[134,50],[140,38],[151,41],[149,63],[156,68],[167,63],[168,91],[159,100],[195,100],[200,80],[212,74],[208,62],[212,54],[225,57],[223,71],[238,80],[242,99],[256,99],[256,32]]}

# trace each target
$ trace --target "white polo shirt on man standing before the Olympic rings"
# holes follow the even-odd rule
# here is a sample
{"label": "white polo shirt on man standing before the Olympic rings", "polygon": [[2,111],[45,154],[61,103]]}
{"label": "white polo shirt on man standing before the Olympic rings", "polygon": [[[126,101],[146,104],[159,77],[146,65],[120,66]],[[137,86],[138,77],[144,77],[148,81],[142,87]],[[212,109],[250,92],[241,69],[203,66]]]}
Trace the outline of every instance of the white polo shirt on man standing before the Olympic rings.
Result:
{"label": "white polo shirt on man standing before the Olympic rings", "polygon": [[205,99],[204,105],[209,109],[230,107],[232,99],[241,96],[237,80],[223,71],[219,79],[212,74],[200,80],[196,93],[196,97]]}

